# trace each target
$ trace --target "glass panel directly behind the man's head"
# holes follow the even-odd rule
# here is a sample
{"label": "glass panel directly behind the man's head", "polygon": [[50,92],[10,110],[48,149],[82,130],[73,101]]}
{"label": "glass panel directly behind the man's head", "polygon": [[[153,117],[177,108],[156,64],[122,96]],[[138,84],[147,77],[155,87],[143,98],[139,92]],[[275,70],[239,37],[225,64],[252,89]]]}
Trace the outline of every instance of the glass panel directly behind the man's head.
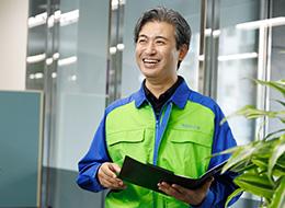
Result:
{"label": "glass panel directly behind the man's head", "polygon": [[200,47],[200,19],[201,3],[196,0],[190,1],[140,1],[127,0],[125,4],[123,41],[125,48],[123,50],[123,69],[122,69],[122,95],[126,96],[137,91],[144,80],[135,59],[134,27],[137,19],[147,9],[164,5],[179,11],[187,20],[192,28],[192,39],[190,51],[181,67],[181,73],[193,90],[198,88],[198,47]]}

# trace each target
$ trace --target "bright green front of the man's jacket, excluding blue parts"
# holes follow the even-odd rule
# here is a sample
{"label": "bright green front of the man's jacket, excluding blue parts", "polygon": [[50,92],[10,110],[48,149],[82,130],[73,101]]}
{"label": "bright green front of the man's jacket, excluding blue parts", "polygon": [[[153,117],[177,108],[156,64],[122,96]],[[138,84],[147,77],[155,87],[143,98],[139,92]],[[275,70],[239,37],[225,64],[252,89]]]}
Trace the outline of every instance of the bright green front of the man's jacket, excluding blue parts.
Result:
{"label": "bright green front of the man's jacket, excluding blue parts", "polygon": [[[163,119],[163,113],[161,119]],[[175,174],[198,177],[207,171],[212,153],[214,113],[201,104],[187,102],[183,109],[173,105],[158,149],[157,164]],[[123,118],[123,119],[122,119]],[[125,155],[153,163],[156,117],[150,105],[137,108],[134,102],[119,106],[106,117],[107,151],[122,166]],[[111,192],[106,207],[183,208],[189,205],[133,184]]]}

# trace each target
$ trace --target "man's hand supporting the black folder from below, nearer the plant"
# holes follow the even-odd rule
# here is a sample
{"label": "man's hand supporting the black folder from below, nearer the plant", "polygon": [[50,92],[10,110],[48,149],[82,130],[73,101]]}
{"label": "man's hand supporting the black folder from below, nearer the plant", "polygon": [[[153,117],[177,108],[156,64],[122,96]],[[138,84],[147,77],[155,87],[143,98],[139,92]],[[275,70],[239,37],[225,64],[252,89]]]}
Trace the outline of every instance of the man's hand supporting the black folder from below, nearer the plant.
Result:
{"label": "man's hand supporting the black folder from below, nearer the plant", "polygon": [[162,182],[158,183],[158,189],[189,205],[195,206],[200,205],[205,199],[213,181],[214,178],[212,177],[197,189],[187,189],[176,184],[169,185],[168,183]]}

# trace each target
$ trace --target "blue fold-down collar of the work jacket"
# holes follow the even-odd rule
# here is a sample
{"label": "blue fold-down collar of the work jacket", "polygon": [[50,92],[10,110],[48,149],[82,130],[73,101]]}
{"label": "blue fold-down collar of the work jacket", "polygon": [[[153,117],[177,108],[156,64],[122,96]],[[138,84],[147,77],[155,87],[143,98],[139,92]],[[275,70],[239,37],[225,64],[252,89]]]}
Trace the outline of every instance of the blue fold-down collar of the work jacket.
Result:
{"label": "blue fold-down collar of the work jacket", "polygon": [[[137,108],[139,108],[144,103],[148,103],[142,84],[140,85],[139,91],[133,94],[135,105]],[[179,108],[184,108],[189,100],[190,93],[191,90],[189,89],[185,80],[183,80],[183,82],[178,86],[173,95],[170,97],[170,102],[174,103]]]}

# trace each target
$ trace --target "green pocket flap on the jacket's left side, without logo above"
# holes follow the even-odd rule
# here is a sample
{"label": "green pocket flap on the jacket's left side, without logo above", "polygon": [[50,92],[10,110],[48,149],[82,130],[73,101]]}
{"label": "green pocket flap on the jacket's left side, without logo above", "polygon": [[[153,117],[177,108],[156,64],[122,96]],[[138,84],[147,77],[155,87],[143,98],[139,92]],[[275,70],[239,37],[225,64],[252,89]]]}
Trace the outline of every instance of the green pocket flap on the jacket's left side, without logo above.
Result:
{"label": "green pocket flap on the jacket's left side, without logo above", "polygon": [[110,146],[121,142],[135,143],[141,141],[144,141],[144,129],[126,130],[107,135],[107,143]]}

